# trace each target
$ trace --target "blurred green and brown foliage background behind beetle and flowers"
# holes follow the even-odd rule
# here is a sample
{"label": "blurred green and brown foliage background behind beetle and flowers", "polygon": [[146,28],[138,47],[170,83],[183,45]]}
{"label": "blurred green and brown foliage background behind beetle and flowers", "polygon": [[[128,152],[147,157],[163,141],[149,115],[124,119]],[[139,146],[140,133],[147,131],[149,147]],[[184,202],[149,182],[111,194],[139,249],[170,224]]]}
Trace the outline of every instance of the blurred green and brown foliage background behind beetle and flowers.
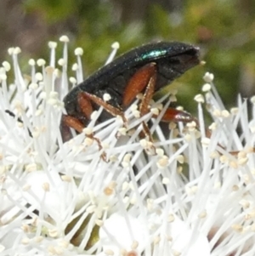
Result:
{"label": "blurred green and brown foliage background behind beetle and flowers", "polygon": [[104,65],[116,41],[118,54],[151,41],[194,43],[207,64],[178,79],[180,104],[195,111],[193,98],[210,71],[229,108],[237,94],[255,94],[254,13],[254,0],[1,0],[0,60],[10,60],[7,49],[20,46],[29,72],[27,60],[48,60],[48,41],[67,35],[70,63],[74,48],[82,47],[88,76]]}

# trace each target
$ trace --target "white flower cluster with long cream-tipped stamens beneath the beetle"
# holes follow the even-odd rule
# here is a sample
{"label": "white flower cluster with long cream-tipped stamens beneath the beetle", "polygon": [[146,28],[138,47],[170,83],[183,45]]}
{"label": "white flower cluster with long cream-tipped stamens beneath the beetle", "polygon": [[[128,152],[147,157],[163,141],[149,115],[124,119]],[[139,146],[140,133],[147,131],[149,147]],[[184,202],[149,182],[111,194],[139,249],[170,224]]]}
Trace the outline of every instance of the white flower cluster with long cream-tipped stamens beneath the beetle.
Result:
{"label": "white flower cluster with long cream-tipped stamens beneath the beetle", "polygon": [[[160,100],[139,117],[135,102],[127,128],[117,117],[96,124],[99,110],[63,144],[68,38],[60,41],[63,58],[55,60],[49,43],[48,64],[30,60],[30,76],[20,71],[19,48],[0,67],[0,255],[255,255],[255,118],[247,102],[226,111],[206,74],[195,97],[200,131],[171,123],[166,137],[159,122],[167,105]],[[82,49],[75,54],[73,85],[83,79]],[[154,143],[139,137],[148,120]]]}

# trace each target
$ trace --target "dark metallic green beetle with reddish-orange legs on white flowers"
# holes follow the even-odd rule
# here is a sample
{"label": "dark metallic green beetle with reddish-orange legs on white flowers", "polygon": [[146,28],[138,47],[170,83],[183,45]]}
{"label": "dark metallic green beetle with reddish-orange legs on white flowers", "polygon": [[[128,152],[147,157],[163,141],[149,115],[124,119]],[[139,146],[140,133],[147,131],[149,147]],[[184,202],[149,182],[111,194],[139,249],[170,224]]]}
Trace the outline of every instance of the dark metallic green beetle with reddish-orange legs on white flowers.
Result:
{"label": "dark metallic green beetle with reddish-orange legs on white flowers", "polygon": [[[63,141],[72,138],[70,128],[82,133],[91,113],[99,106],[104,107],[99,122],[117,115],[125,122],[124,111],[139,93],[144,95],[139,106],[141,116],[144,115],[154,92],[199,63],[199,48],[179,42],[149,43],[122,54],[65,96],[66,114],[62,115],[60,122]],[[105,102],[104,94],[110,94],[111,100]],[[174,108],[167,109],[162,118],[165,122],[193,120],[189,113]]]}

